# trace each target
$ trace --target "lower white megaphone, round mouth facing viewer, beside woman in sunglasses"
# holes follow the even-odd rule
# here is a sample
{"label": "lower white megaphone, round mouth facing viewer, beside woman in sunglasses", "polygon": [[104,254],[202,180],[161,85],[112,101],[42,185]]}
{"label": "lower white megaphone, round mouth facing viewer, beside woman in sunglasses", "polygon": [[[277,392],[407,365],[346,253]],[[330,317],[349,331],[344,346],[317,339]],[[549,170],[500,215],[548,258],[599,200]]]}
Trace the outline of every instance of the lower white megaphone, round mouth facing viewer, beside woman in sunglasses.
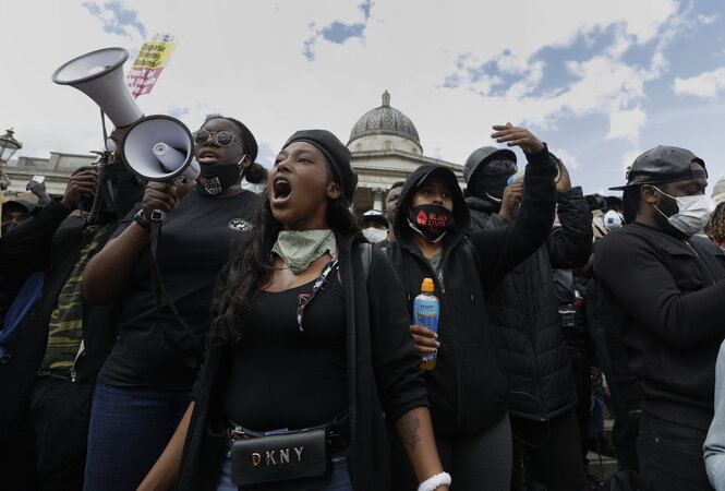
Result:
{"label": "lower white megaphone, round mouth facing viewer, beside woman in sunglasses", "polygon": [[133,123],[123,135],[121,152],[129,170],[149,181],[197,180],[202,173],[191,132],[170,116],[148,116]]}

